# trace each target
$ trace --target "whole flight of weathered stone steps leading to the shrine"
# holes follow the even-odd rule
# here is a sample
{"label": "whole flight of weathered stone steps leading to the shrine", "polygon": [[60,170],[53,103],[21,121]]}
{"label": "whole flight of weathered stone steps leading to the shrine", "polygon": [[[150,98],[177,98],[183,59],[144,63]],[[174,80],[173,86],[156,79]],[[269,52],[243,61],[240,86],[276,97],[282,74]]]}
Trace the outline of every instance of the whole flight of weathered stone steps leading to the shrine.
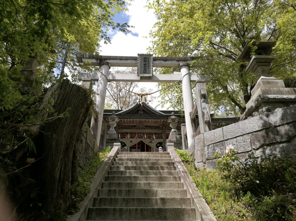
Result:
{"label": "whole flight of weathered stone steps leading to the shrine", "polygon": [[196,220],[169,153],[119,152],[87,220]]}

